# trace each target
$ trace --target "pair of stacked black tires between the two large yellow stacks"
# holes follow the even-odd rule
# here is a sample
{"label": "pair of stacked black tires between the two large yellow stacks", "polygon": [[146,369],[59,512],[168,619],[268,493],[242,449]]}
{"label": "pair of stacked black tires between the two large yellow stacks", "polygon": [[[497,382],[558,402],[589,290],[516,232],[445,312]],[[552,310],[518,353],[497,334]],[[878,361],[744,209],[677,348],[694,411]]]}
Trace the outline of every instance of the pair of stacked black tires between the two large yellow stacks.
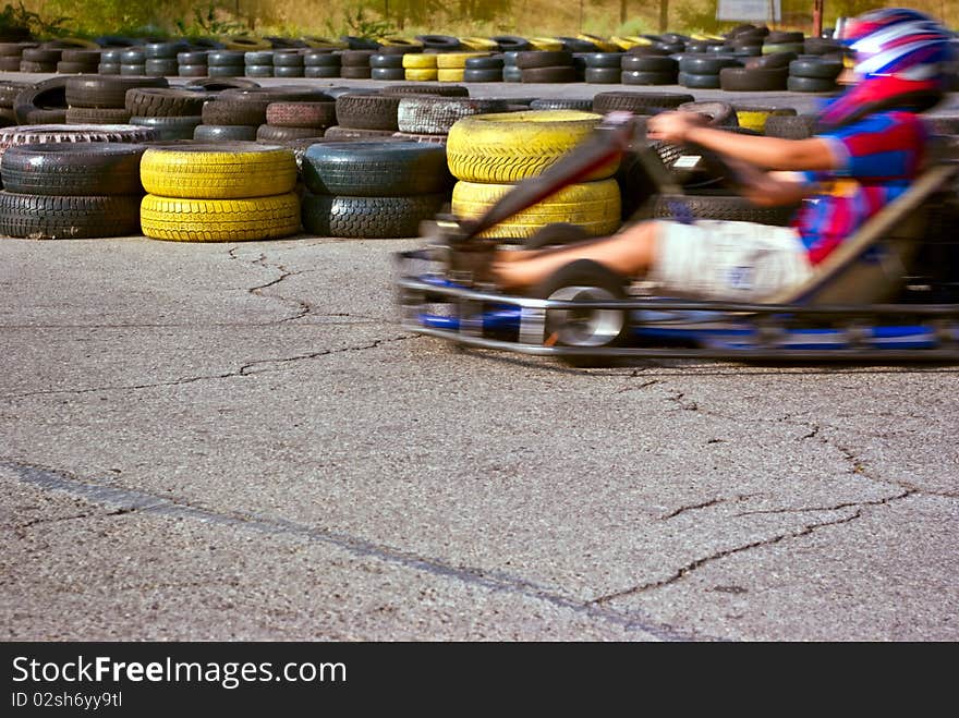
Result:
{"label": "pair of stacked black tires between the two large yellow stacks", "polygon": [[449,202],[441,145],[354,141],[311,145],[303,157],[303,228],[319,236],[416,236]]}

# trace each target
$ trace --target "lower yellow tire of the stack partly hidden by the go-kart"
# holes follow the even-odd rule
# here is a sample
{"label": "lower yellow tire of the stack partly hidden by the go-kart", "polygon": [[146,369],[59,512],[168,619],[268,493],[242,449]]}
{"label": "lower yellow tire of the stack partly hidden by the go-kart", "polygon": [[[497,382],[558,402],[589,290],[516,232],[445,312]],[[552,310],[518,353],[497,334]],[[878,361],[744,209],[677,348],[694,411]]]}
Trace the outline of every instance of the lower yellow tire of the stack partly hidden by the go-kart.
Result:
{"label": "lower yellow tire of the stack partly hidden by the go-kart", "polygon": [[[460,219],[482,217],[513,184],[457,182],[453,186],[452,214]],[[612,234],[621,224],[621,199],[616,180],[583,182],[563,187],[539,204],[513,215],[481,236],[525,239],[555,222],[583,228],[590,236]]]}

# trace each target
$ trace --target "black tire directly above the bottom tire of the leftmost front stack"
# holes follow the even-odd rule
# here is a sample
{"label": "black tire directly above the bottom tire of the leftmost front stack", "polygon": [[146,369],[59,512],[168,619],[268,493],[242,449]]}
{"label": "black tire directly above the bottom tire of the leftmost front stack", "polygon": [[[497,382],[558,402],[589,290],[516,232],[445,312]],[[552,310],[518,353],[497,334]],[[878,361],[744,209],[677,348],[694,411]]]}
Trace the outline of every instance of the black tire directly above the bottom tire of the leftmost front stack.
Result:
{"label": "black tire directly above the bottom tire of the leftmost front stack", "polygon": [[146,145],[43,143],[14,145],[0,158],[3,187],[17,194],[141,194],[139,159]]}

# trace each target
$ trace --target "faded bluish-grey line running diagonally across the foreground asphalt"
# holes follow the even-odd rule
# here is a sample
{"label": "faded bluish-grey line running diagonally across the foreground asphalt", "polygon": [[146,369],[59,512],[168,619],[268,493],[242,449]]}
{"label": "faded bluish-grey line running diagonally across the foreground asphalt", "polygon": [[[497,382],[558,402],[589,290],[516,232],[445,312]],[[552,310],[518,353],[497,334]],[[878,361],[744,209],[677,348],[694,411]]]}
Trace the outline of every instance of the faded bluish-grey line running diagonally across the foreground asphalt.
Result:
{"label": "faded bluish-grey line running diagonally across the foreground asphalt", "polygon": [[549,587],[507,572],[458,565],[436,557],[418,556],[342,532],[316,528],[283,519],[246,512],[228,513],[197,508],[182,500],[163,498],[145,491],[84,482],[64,471],[37,466],[10,458],[0,458],[0,467],[12,472],[25,484],[46,490],[65,492],[92,503],[113,507],[123,513],[149,513],[167,518],[191,519],[214,525],[240,527],[259,534],[294,536],[308,541],[335,546],[361,558],[371,558],[405,569],[423,571],[441,579],[480,586],[486,591],[534,598],[591,619],[617,625],[626,631],[641,631],[660,641],[721,641],[721,638],[704,636],[692,631],[687,632],[669,624],[656,623],[638,611],[607,608],[598,605],[595,600],[585,603],[574,600]]}

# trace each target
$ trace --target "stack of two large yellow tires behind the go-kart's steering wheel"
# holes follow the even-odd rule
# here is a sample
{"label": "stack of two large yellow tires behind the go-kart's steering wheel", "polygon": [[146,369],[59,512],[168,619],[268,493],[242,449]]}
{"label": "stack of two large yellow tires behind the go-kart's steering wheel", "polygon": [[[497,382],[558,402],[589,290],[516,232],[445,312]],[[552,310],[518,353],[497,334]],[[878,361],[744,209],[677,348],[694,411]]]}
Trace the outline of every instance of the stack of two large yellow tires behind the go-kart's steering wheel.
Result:
{"label": "stack of two large yellow tires behind the go-kart's steering wheel", "polygon": [[[458,121],[447,138],[449,170],[458,180],[452,193],[453,215],[481,217],[518,183],[558,162],[600,120],[593,112],[533,110]],[[484,236],[529,239],[556,222],[580,227],[590,236],[616,231],[621,221],[619,185],[612,179],[618,165],[598,168],[585,181],[500,222]]]}

